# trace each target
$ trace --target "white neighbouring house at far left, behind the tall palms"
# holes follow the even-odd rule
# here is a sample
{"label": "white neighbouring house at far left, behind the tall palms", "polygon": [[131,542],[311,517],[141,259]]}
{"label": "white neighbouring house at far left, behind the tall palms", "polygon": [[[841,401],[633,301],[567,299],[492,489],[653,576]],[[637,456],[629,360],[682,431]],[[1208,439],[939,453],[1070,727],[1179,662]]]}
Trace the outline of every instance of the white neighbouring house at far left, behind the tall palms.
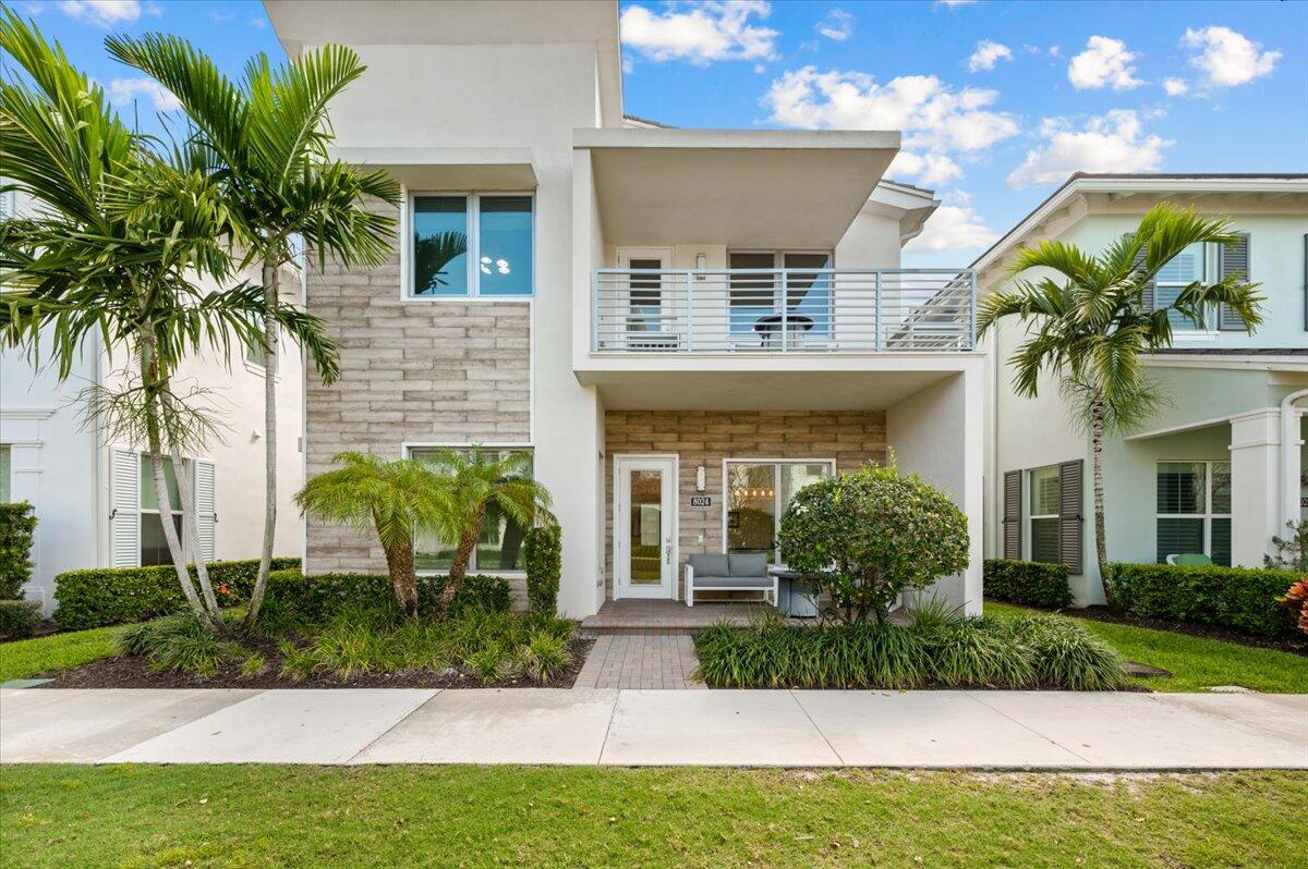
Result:
{"label": "white neighbouring house at far left, behind the tall palms", "polygon": [[[24,200],[5,209],[21,212]],[[243,276],[258,280],[259,274]],[[302,297],[298,269],[284,269],[288,301]],[[48,357],[47,357],[48,358]],[[98,336],[63,382],[51,366],[34,367],[17,350],[0,350],[0,500],[26,500],[37,514],[33,575],[27,600],[56,606],[55,576],[82,567],[171,563],[164,540],[167,516],[181,527],[182,502],[170,478],[171,503],[160,510],[154,477],[140,444],[110,442],[85,413],[81,393],[93,384],[120,385],[129,355],[109,353]],[[303,365],[300,349],[280,348],[277,365],[279,494],[277,555],[302,549],[298,508],[290,495],[303,485],[300,433],[303,421]],[[221,426],[204,455],[186,457],[192,482],[200,555],[207,561],[258,558],[264,514],[263,361],[237,355],[196,357],[178,371],[178,395],[203,389],[203,405]],[[171,473],[171,463],[169,463]],[[195,555],[192,554],[192,558]]]}

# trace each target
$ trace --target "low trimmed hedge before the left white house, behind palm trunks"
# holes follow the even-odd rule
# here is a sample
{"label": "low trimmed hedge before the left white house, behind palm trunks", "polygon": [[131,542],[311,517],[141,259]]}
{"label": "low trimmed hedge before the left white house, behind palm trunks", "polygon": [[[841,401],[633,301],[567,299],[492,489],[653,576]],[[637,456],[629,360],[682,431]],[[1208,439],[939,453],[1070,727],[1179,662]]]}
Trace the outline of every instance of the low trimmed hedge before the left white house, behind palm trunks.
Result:
{"label": "low trimmed hedge before the left white house, behind palm trunks", "polygon": [[[298,558],[273,558],[273,570],[298,567]],[[195,567],[191,567],[195,575]],[[209,582],[220,604],[237,604],[254,588],[259,559],[209,562]],[[225,587],[225,591],[224,591]],[[55,576],[55,623],[64,631],[144,622],[186,609],[171,565],[93,567]]]}

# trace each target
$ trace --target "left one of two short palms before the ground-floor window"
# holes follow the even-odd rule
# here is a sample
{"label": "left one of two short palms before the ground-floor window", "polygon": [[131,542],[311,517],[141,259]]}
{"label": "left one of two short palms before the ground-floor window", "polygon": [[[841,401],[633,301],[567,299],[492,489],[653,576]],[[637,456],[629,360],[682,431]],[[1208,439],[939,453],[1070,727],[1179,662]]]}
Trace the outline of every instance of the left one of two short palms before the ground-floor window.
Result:
{"label": "left one of two short palms before the ground-floor window", "polygon": [[296,493],[303,512],[349,523],[360,533],[375,533],[386,553],[395,601],[405,615],[417,614],[417,574],[413,532],[433,527],[443,512],[445,480],[430,465],[402,459],[343,452],[332,457],[340,468],[318,474]]}

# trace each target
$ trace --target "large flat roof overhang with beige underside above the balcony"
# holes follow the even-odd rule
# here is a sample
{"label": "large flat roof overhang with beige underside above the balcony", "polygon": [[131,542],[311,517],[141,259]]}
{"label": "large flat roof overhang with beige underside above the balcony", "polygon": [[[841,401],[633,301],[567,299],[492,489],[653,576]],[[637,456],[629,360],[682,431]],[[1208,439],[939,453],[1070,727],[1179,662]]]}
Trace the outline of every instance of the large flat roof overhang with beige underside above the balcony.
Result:
{"label": "large flat roof overhang with beige underside above the balcony", "polygon": [[835,247],[899,146],[878,131],[573,131],[608,244]]}

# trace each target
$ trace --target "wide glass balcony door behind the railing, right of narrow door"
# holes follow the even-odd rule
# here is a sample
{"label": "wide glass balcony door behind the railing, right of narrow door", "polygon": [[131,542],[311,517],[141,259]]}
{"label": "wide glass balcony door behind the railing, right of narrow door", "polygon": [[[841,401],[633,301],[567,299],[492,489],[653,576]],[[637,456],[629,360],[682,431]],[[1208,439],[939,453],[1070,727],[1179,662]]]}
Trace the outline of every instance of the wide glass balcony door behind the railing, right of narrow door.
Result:
{"label": "wide glass balcony door behind the railing, right of narrow door", "polygon": [[[738,336],[776,332],[780,341],[781,312],[793,336],[831,336],[832,276],[829,251],[732,251],[732,269],[787,269],[781,274],[732,274],[730,277],[730,325]],[[794,271],[791,271],[794,269]]]}

